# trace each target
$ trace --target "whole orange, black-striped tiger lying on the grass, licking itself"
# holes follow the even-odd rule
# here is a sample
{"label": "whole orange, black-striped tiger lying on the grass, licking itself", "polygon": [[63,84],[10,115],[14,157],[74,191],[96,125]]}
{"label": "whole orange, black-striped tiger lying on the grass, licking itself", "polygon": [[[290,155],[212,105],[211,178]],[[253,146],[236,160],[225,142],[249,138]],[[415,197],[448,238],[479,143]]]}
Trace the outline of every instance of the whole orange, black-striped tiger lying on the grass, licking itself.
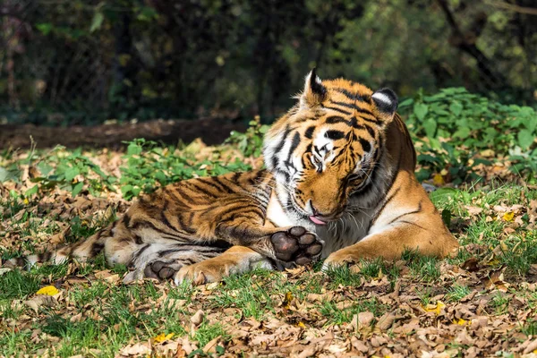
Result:
{"label": "whole orange, black-striped tiger lying on the grass, licking itself", "polygon": [[144,277],[203,284],[253,268],[326,259],[396,260],[458,247],[414,176],[410,135],[392,90],[306,76],[303,93],[267,132],[266,170],[167,185],[90,238],[12,260],[89,260],[104,252]]}

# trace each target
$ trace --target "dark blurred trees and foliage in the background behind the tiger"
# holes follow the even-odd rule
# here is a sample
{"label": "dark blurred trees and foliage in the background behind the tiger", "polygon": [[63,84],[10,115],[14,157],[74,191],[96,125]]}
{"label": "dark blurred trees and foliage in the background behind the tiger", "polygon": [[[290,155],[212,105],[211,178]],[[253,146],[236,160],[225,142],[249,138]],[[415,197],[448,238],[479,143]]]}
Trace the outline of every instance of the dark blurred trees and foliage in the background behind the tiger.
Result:
{"label": "dark blurred trees and foliage in the background behind the tiger", "polygon": [[313,66],[535,106],[534,0],[3,0],[0,29],[3,123],[269,122]]}

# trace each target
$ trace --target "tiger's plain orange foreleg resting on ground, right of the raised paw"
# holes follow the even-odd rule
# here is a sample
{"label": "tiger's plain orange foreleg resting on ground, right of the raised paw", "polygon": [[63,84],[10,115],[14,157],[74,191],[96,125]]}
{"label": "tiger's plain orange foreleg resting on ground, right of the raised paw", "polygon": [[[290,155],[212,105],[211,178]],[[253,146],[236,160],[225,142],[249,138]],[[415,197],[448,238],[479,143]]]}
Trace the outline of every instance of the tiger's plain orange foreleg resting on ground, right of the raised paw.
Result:
{"label": "tiger's plain orange foreleg resting on ground, right of the raised paw", "polygon": [[323,269],[337,267],[361,259],[397,260],[407,250],[417,250],[425,256],[443,258],[456,249],[458,243],[447,231],[428,230],[412,222],[390,226],[385,231],[365,236],[360,242],[331,253]]}

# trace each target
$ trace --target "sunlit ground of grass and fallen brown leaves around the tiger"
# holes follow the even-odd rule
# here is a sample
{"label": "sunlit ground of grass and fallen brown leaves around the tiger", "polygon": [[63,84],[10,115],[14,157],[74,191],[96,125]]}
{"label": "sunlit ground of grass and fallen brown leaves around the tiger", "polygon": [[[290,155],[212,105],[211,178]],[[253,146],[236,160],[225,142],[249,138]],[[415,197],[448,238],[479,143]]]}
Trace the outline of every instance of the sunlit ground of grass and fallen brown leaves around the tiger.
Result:
{"label": "sunlit ground of grass and fallen brown leaves around the tiger", "polygon": [[[2,259],[87,237],[141,191],[261,166],[252,133],[217,147],[5,150]],[[537,188],[496,177],[454,188],[434,175],[431,199],[462,245],[446,260],[408,251],[178,287],[124,286],[126,269],[102,257],[0,268],[0,356],[537,356]]]}

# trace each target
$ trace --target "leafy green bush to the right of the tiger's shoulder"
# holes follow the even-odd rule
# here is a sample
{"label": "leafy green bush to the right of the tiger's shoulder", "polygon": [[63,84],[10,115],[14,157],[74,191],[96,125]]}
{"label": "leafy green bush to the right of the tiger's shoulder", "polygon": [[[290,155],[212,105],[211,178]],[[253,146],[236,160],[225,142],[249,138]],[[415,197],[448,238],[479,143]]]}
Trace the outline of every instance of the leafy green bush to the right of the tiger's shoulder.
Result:
{"label": "leafy green bush to the right of the tiger's shoulder", "polygon": [[[400,105],[418,149],[420,179],[447,169],[454,183],[476,179],[473,166],[485,158],[507,158],[516,173],[537,170],[537,114],[532,107],[502,105],[463,88],[425,96],[418,92]],[[533,176],[531,177],[533,179]]]}

